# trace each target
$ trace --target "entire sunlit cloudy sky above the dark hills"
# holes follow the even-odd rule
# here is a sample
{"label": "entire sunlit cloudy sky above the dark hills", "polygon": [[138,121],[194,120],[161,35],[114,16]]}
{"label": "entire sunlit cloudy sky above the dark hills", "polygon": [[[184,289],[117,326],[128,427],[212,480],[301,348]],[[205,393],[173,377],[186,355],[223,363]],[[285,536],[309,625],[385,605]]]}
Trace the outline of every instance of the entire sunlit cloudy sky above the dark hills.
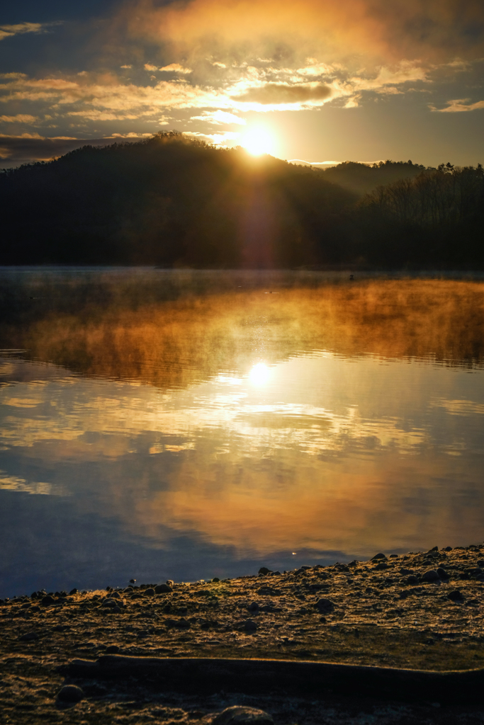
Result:
{"label": "entire sunlit cloudy sky above the dark hills", "polygon": [[483,0],[17,0],[0,167],[179,130],[318,163],[484,162]]}

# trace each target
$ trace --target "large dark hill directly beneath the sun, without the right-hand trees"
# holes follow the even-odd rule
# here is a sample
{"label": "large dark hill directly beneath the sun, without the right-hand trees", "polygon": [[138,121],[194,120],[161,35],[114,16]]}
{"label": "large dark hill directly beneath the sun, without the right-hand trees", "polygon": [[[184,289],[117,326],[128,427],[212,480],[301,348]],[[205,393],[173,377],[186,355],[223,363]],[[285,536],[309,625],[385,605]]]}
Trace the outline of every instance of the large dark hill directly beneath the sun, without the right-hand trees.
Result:
{"label": "large dark hill directly beneath the sun, without the right-hand trees", "polygon": [[356,201],[311,169],[173,132],[9,170],[0,191],[3,264],[317,263]]}

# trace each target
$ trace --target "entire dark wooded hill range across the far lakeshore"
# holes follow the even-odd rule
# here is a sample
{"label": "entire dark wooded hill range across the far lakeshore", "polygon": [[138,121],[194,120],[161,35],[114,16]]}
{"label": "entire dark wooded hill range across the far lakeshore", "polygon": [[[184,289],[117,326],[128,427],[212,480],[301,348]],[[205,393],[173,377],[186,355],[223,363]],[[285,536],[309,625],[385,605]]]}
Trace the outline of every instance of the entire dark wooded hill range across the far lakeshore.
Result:
{"label": "entire dark wooded hill range across the far lakeshore", "polygon": [[169,132],[6,170],[0,199],[3,265],[484,268],[480,165],[323,171]]}

